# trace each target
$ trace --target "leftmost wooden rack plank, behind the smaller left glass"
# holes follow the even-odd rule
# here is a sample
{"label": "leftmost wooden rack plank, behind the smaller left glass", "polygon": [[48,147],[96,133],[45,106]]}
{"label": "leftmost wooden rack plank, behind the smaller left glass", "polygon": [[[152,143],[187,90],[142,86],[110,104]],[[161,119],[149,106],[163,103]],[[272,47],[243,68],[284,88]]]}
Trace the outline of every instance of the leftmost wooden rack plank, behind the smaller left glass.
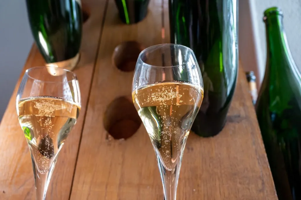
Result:
{"label": "leftmost wooden rack plank, behind the smaller left glass", "polygon": [[[86,0],[83,2],[83,10],[88,11],[90,17],[83,25],[82,46],[80,50],[81,58],[78,66],[74,69],[79,79],[82,94],[82,109],[76,126],[70,132],[60,152],[49,185],[47,199],[66,200],[70,196],[105,4],[106,0]],[[18,122],[15,99],[25,70],[33,66],[43,65],[45,65],[45,61],[36,45],[33,45],[2,118],[0,125],[1,200],[35,199],[36,192],[31,158],[29,148]]]}

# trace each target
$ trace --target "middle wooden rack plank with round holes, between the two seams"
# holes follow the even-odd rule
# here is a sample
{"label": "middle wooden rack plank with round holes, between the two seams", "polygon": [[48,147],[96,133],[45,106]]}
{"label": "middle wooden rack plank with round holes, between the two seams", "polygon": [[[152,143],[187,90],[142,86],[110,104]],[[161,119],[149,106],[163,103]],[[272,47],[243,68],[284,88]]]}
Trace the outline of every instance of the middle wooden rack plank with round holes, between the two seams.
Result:
{"label": "middle wooden rack plank with round holes, between the two seams", "polygon": [[132,101],[133,72],[122,72],[113,65],[114,48],[131,40],[144,47],[162,43],[161,7],[162,0],[152,0],[143,21],[125,25],[119,20],[115,2],[109,1],[71,200],[163,198],[154,150],[144,126],[124,141],[107,140],[104,127],[104,113],[114,99],[127,96]]}

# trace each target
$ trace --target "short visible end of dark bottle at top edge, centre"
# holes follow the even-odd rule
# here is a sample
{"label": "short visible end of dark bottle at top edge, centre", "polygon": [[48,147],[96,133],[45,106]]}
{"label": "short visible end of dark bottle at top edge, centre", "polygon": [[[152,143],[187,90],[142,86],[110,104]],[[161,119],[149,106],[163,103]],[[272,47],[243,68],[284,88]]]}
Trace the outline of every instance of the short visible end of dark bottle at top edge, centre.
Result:
{"label": "short visible end of dark bottle at top edge, centre", "polygon": [[146,17],[149,0],[115,0],[123,23],[138,23]]}

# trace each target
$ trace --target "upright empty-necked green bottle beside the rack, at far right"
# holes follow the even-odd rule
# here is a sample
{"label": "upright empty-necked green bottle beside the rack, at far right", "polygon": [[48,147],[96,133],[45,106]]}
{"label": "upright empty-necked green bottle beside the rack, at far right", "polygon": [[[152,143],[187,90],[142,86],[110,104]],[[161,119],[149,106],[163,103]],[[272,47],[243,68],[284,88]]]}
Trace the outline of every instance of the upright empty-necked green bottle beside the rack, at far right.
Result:
{"label": "upright empty-necked green bottle beside the rack, at far right", "polygon": [[264,12],[267,60],[256,114],[279,200],[301,199],[301,75],[279,8]]}

